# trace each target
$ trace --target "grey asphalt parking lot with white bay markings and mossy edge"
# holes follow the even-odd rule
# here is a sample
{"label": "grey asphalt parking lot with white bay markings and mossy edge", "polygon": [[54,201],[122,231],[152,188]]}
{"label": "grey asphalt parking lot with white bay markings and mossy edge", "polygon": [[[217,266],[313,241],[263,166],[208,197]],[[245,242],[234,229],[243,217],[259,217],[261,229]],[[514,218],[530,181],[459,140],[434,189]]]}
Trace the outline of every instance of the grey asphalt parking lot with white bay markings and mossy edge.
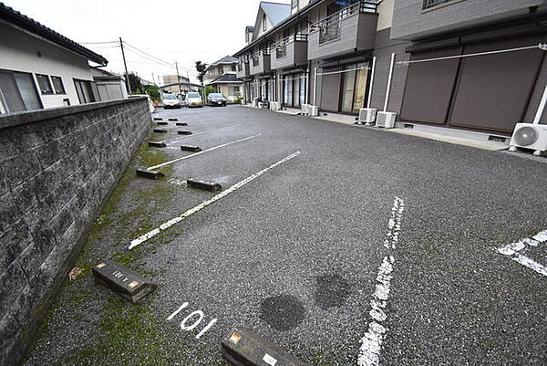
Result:
{"label": "grey asphalt parking lot with white bay markings and mossy edge", "polygon": [[[26,365],[226,365],[233,326],[312,365],[547,362],[547,235],[508,246],[547,229],[547,164],[241,106],[155,116],[188,126],[151,124],[167,147],[130,163]],[[119,299],[105,258],[160,288]]]}

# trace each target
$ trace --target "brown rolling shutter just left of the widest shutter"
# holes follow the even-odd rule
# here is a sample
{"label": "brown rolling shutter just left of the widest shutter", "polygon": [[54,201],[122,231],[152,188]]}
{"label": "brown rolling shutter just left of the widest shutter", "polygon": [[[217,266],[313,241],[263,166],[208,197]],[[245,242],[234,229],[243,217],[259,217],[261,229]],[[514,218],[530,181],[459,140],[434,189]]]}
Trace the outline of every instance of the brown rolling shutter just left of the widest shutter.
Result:
{"label": "brown rolling shutter just left of the widest shutter", "polygon": [[[460,47],[412,54],[410,60],[459,55]],[[408,65],[401,120],[446,123],[458,58]]]}

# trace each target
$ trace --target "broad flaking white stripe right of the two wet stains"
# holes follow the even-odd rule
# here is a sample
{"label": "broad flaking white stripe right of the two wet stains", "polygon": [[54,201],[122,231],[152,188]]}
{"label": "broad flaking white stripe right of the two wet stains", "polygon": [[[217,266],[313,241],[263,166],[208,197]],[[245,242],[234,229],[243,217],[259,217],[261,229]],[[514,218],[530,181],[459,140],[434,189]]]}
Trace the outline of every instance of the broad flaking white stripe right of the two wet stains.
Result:
{"label": "broad flaking white stripe right of the two wet stains", "polygon": [[[384,239],[384,246],[387,250],[393,252],[397,247],[399,233],[401,230],[401,217],[405,211],[405,202],[395,197],[391,208],[391,216],[387,221],[387,234]],[[380,352],[382,343],[386,337],[387,329],[381,323],[386,321],[387,299],[391,288],[391,279],[393,276],[393,266],[395,264],[394,256],[384,256],[382,264],[378,267],[377,284],[370,300],[369,311],[372,321],[368,323],[368,329],[365,336],[360,340],[361,347],[357,357],[359,366],[377,366],[380,363]]]}

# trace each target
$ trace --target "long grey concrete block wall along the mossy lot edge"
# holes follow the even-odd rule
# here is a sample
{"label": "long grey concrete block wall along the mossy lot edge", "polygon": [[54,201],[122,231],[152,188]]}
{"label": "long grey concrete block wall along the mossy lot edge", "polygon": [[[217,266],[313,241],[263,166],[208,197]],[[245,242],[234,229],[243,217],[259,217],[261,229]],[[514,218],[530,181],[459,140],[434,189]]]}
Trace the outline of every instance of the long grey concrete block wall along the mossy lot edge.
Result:
{"label": "long grey concrete block wall along the mossy lot edge", "polygon": [[0,365],[14,365],[150,128],[147,99],[0,117]]}

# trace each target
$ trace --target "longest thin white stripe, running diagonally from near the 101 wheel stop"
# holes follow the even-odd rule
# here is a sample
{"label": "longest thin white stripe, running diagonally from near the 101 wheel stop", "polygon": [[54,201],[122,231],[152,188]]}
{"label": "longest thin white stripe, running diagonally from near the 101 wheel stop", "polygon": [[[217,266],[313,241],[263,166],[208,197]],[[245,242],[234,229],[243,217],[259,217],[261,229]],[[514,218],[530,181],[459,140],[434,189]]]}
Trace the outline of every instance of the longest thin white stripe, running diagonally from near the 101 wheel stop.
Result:
{"label": "longest thin white stripe, running diagonally from near the 101 wheel stop", "polygon": [[272,165],[268,166],[267,168],[264,168],[262,171],[254,173],[253,175],[248,176],[247,178],[243,179],[243,181],[240,181],[238,183],[233,184],[230,188],[228,188],[226,191],[222,191],[221,193],[218,193],[217,195],[213,196],[212,198],[208,199],[207,201],[203,201],[201,204],[198,204],[195,207],[192,207],[190,210],[185,211],[180,216],[174,217],[170,219],[169,221],[163,223],[160,225],[160,227],[155,228],[154,230],[151,230],[150,232],[146,233],[145,235],[140,235],[138,238],[131,240],[131,243],[129,244],[129,249],[134,248],[135,246],[139,246],[140,244],[144,243],[145,241],[149,240],[151,237],[156,236],[160,234],[161,231],[167,230],[170,228],[170,226],[175,225],[188,216],[191,216],[192,214],[197,213],[201,209],[207,207],[208,205],[220,200],[222,197],[227,196],[228,194],[238,190],[239,188],[243,187],[243,185],[255,180],[259,176],[263,175],[263,173],[267,173],[274,169],[277,165],[283,164],[284,162],[288,162],[291,159],[294,159],[296,156],[300,155],[300,152],[293,152],[289,156],[283,158],[279,162],[274,162]]}

